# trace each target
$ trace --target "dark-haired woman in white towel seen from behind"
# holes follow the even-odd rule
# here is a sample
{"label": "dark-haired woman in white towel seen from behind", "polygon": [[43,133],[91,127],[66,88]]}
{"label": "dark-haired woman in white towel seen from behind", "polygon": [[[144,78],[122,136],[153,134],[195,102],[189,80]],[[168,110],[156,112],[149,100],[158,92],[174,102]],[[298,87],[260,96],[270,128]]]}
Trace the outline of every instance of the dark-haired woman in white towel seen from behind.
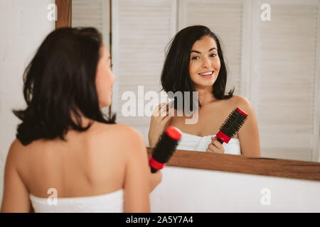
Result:
{"label": "dark-haired woman in white towel seen from behind", "polygon": [[27,107],[14,111],[22,123],[2,212],[150,211],[161,172],[151,175],[142,135],[100,111],[112,102],[110,62],[95,28],[60,28],[43,41],[24,74]]}

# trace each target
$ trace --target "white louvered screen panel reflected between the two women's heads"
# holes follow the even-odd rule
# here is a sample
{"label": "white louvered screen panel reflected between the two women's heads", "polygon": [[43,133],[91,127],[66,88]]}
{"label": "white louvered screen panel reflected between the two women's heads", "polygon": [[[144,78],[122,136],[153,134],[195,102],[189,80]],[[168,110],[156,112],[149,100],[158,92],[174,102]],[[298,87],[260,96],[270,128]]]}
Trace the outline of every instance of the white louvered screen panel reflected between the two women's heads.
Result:
{"label": "white louvered screen panel reflected between the two women's heads", "polygon": [[[112,1],[112,59],[116,83],[113,111],[117,122],[139,130],[146,143],[150,118],[143,110],[144,94],[159,92],[165,47],[176,33],[176,1],[122,0]],[[138,92],[140,86],[140,92]],[[131,98],[124,92],[134,92],[136,116],[123,116],[122,106]]]}

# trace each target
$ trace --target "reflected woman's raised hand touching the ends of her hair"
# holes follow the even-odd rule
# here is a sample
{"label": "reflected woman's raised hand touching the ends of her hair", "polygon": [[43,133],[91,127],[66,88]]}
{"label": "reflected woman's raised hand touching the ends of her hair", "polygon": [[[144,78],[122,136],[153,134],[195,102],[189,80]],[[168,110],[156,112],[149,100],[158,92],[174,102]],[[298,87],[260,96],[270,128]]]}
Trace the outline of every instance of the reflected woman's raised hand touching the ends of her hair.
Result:
{"label": "reflected woman's raised hand touching the ends of her hair", "polygon": [[149,147],[154,148],[161,134],[169,126],[172,116],[169,116],[169,104],[163,103],[154,109],[151,116],[150,128],[148,133]]}

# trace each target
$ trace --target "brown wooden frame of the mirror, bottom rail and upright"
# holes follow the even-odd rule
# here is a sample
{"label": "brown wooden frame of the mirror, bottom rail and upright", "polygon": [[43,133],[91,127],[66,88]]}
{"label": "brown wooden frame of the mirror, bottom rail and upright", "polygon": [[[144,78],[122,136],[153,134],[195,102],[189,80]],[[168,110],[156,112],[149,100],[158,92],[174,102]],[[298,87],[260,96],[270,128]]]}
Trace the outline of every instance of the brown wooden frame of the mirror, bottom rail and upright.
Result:
{"label": "brown wooden frame of the mirror, bottom rail and upright", "polygon": [[[72,0],[55,0],[55,4],[58,13],[55,28],[71,27]],[[152,148],[146,150],[150,156]],[[320,181],[320,162],[176,150],[167,165]]]}

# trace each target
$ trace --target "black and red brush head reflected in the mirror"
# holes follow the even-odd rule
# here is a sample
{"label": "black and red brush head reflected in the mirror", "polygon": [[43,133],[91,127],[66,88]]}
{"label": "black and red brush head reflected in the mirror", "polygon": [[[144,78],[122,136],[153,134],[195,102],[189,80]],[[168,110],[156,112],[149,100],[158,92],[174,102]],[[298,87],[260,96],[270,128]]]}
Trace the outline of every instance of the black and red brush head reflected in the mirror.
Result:
{"label": "black and red brush head reflected in the mirror", "polygon": [[246,119],[247,114],[245,112],[239,108],[234,109],[220,127],[220,131],[217,133],[217,140],[220,143],[229,143],[229,140],[240,130]]}

